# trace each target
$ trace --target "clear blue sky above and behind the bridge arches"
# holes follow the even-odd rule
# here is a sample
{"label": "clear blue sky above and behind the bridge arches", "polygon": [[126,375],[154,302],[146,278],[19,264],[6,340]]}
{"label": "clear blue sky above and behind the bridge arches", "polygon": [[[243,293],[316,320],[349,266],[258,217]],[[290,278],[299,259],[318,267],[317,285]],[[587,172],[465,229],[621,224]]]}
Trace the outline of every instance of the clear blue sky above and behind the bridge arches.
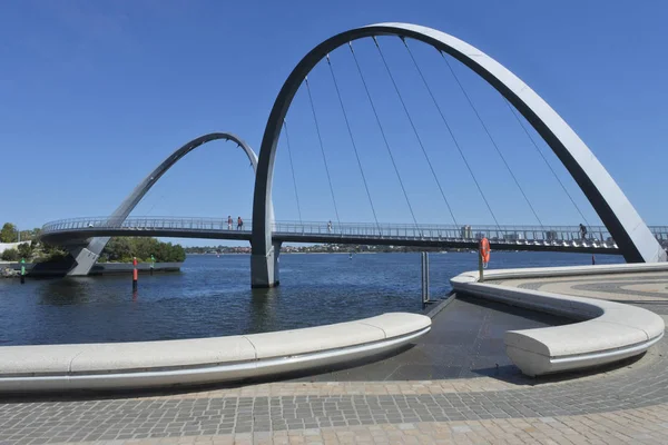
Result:
{"label": "clear blue sky above and behind the bridge arches", "polygon": [[[233,131],[259,148],[272,103],[313,46],[352,27],[405,21],[456,36],[541,95],[608,168],[648,224],[668,224],[668,3],[664,1],[4,1],[0,4],[0,221],[21,228],[110,214],[173,150]],[[491,224],[482,200],[395,38],[380,43],[458,222]],[[411,48],[484,175],[501,224],[536,224],[493,147],[430,48]],[[419,222],[452,222],[375,48],[355,43]],[[347,49],[332,53],[379,219],[411,217]],[[581,218],[500,96],[461,77],[544,224]],[[372,221],[326,66],[310,76],[343,221]],[[288,113],[305,220],[335,219],[305,90]],[[297,219],[285,138],[277,219]],[[591,224],[598,218],[541,149]],[[170,170],[134,215],[250,217],[253,175],[240,150],[213,142]]]}

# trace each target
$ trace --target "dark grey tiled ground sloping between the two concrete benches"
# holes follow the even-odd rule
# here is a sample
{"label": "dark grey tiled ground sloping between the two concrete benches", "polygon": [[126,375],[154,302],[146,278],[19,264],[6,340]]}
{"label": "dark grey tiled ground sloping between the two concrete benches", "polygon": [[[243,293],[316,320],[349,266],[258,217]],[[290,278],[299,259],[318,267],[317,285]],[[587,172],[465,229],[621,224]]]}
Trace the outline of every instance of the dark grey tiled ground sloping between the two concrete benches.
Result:
{"label": "dark grey tiled ground sloping between the two concrete benches", "polygon": [[[568,319],[502,304],[455,298],[433,319],[431,332],[401,354],[371,364],[322,372],[298,380],[429,380],[520,376],[503,345],[509,329],[569,323]],[[498,367],[497,367],[498,366]]]}

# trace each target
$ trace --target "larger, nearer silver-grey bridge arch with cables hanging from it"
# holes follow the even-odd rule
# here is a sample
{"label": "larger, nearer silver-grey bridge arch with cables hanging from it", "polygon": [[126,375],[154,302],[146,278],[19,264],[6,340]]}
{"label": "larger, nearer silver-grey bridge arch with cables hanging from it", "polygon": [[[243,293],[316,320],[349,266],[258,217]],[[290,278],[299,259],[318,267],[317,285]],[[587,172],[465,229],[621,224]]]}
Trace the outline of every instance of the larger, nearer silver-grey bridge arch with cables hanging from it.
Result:
{"label": "larger, nearer silver-grey bridge arch with cables hanging from it", "polygon": [[258,277],[256,286],[272,285],[271,270],[269,283],[259,283],[263,281],[259,268],[264,267],[261,258],[272,256],[269,202],[274,159],[281,127],[289,105],[306,75],[327,53],[350,41],[372,36],[399,36],[420,40],[449,53],[482,77],[524,116],[552,148],[610,230],[626,260],[666,260],[666,253],[591,150],[522,80],[479,49],[444,32],[409,23],[380,23],[355,28],[320,43],[297,63],[278,92],[263,136],[255,177],[252,267],[258,268],[254,273]]}

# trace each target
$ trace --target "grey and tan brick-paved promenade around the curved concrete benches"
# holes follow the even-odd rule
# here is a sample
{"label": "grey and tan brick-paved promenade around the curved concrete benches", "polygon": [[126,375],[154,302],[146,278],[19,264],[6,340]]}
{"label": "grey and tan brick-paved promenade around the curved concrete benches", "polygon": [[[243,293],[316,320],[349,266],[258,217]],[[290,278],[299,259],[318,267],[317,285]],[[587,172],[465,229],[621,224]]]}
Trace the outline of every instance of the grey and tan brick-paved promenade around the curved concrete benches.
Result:
{"label": "grey and tan brick-paved promenade around the curved concrete benches", "polygon": [[[503,284],[557,286],[668,315],[668,274]],[[667,353],[668,340],[661,340],[638,360],[577,377],[279,382],[125,398],[6,400],[0,444],[665,444]]]}

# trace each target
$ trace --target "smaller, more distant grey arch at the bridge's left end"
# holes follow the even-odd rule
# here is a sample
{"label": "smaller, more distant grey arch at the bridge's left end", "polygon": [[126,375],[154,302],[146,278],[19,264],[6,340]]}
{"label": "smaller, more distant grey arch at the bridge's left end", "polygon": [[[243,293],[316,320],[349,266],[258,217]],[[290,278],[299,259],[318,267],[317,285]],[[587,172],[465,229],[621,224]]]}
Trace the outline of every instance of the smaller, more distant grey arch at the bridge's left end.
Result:
{"label": "smaller, more distant grey arch at the bridge's left end", "polygon": [[[210,132],[208,135],[200,136],[191,141],[187,142],[171,155],[169,155],[158,167],[156,167],[141,182],[139,182],[132,192],[128,195],[128,197],[116,208],[114,214],[109,217],[109,221],[112,225],[120,227],[122,222],[126,220],[128,215],[132,211],[135,207],[139,204],[141,198],[150,190],[150,188],[160,179],[163,175],[167,172],[179,159],[184,156],[200,147],[207,142],[214,140],[230,140],[235,142],[238,147],[240,147],[250,165],[253,166],[253,171],[257,172],[257,155],[255,151],[238,136],[230,132]],[[269,204],[269,219],[274,219],[274,207]],[[97,260],[97,258],[102,253],[102,249],[109,241],[109,237],[96,237],[88,241],[87,246],[79,246],[72,253],[75,257],[76,264],[68,271],[69,276],[79,276],[79,275],[88,275],[90,268]]]}

